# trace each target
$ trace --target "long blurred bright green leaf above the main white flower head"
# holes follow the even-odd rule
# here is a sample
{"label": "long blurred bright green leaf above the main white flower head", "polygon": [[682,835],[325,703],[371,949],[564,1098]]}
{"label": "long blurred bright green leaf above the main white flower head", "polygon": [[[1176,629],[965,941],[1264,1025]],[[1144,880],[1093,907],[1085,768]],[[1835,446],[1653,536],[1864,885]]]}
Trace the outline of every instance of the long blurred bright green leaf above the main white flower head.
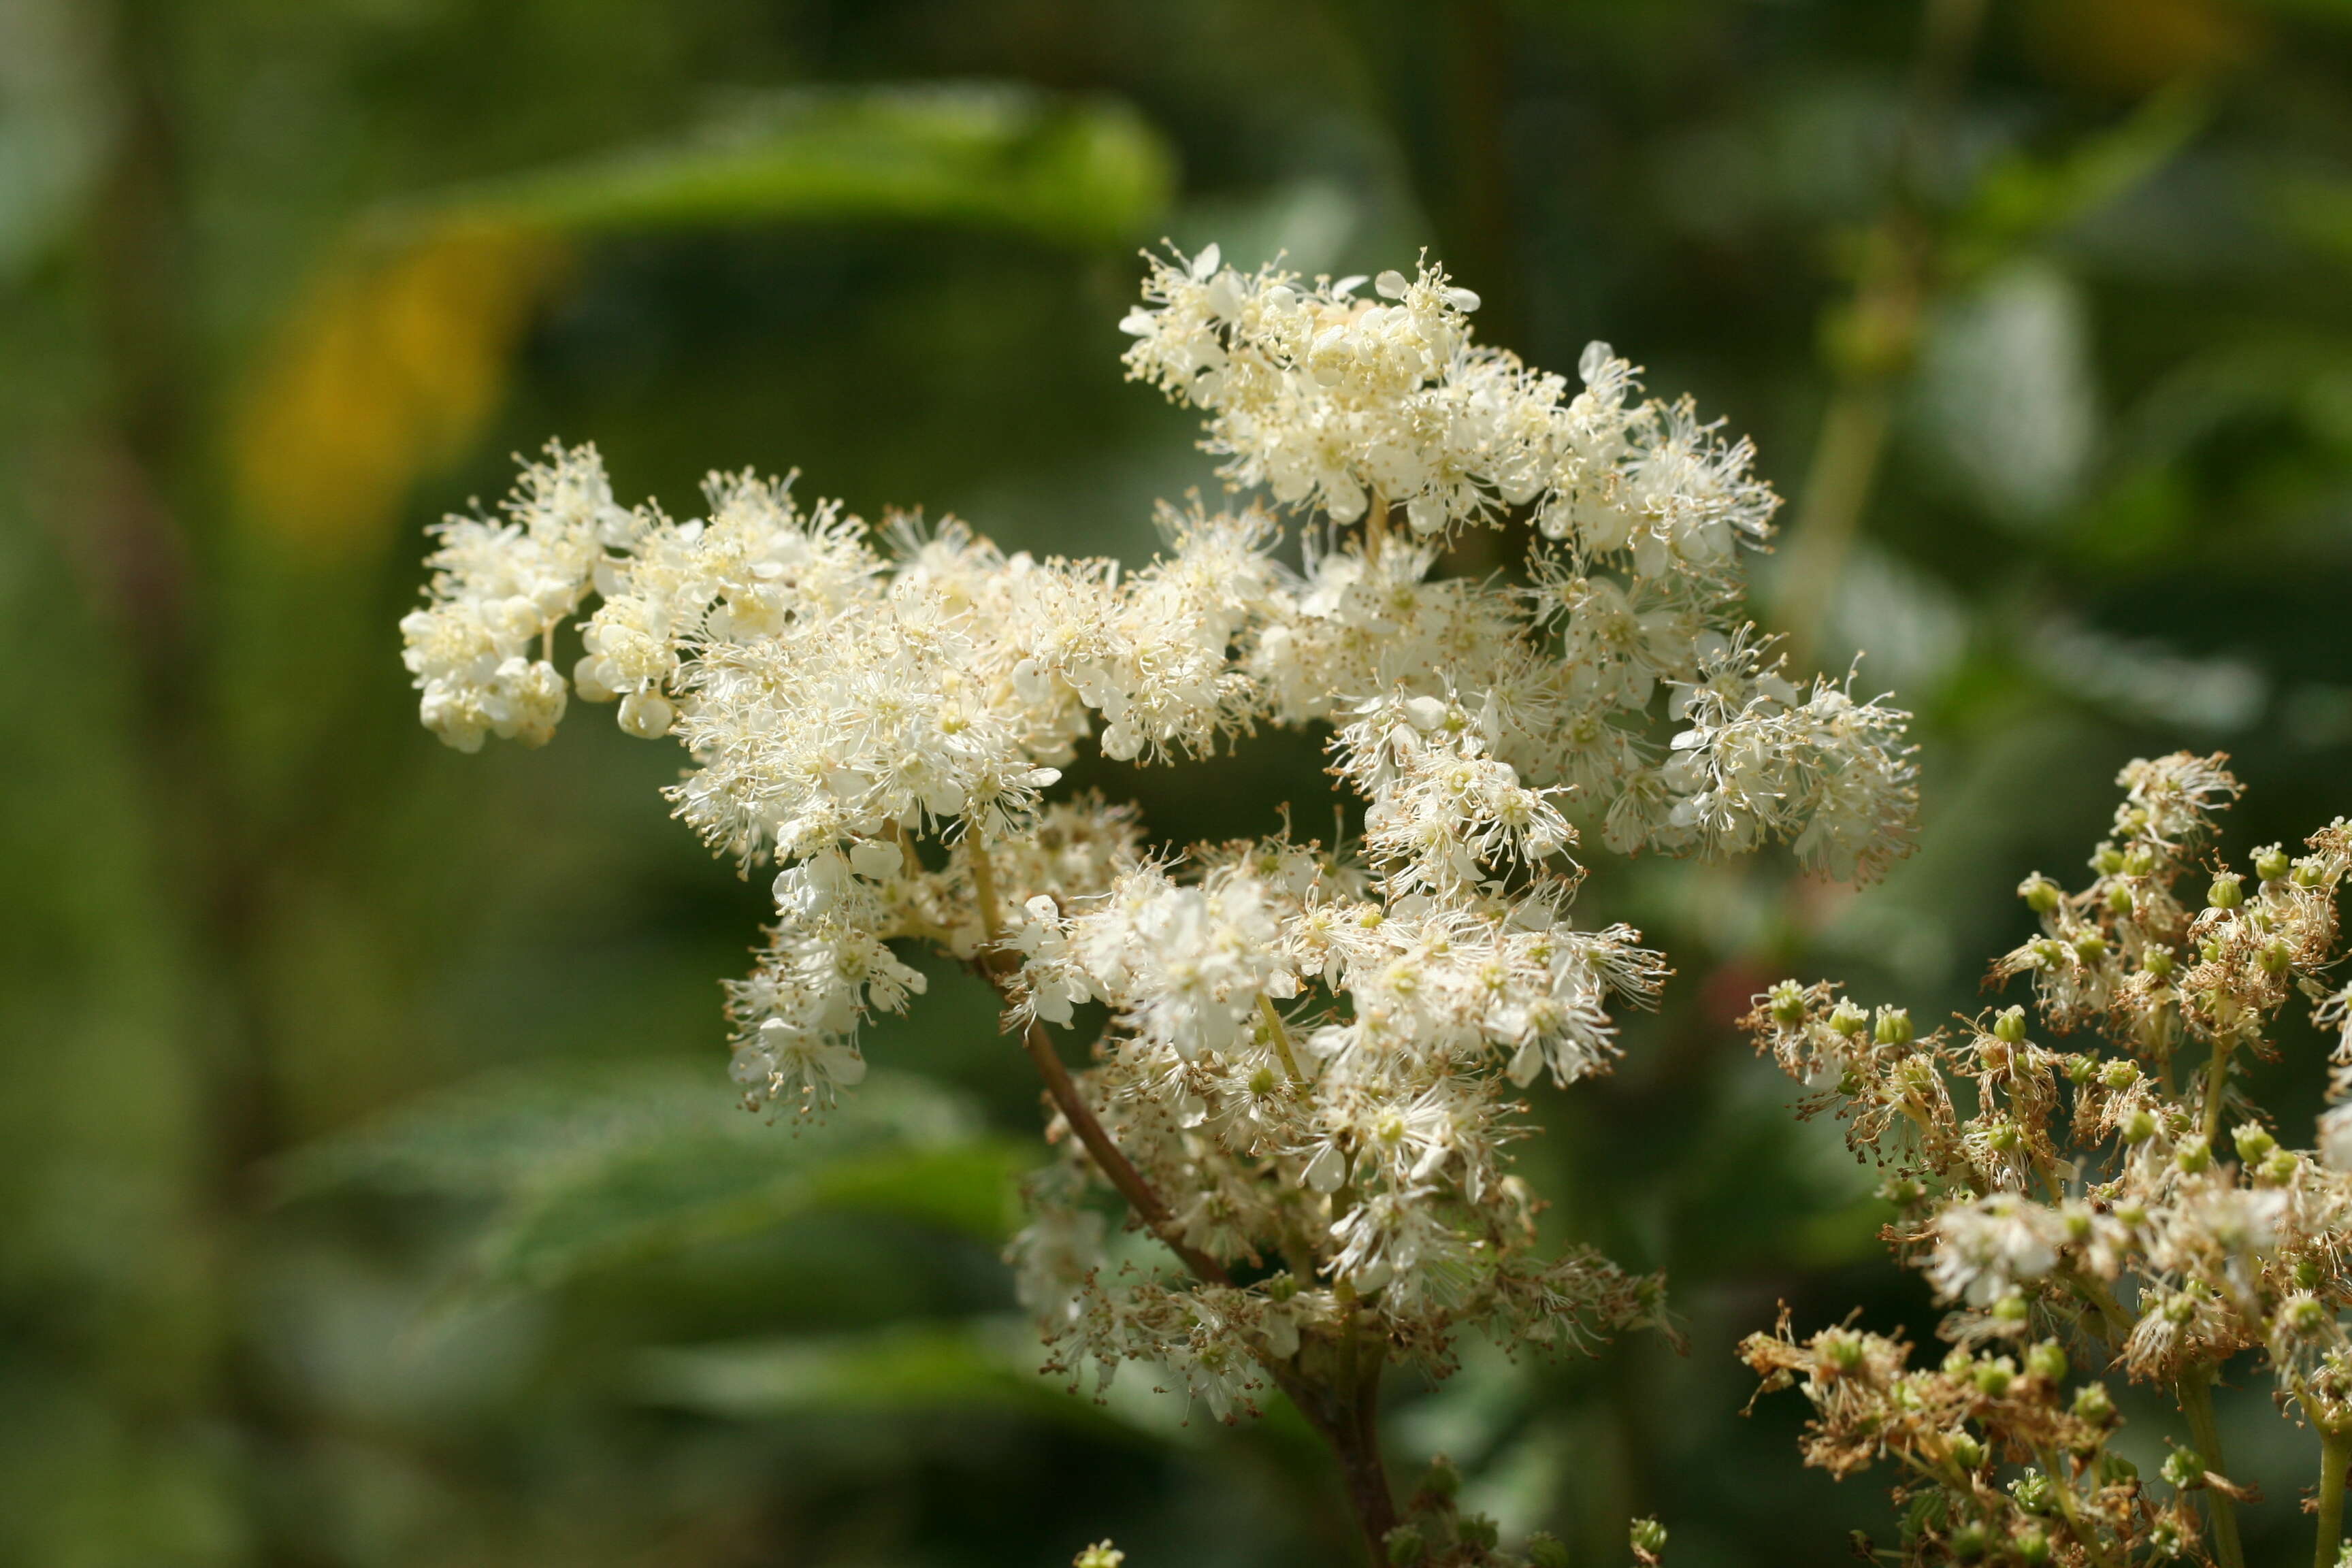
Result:
{"label": "long blurred bright green leaf above the main white flower head", "polygon": [[1174,188],[1167,143],[1112,99],[1009,85],[797,89],[743,99],[677,143],[466,186],[383,233],[588,235],[771,219],[924,219],[1127,242]]}

